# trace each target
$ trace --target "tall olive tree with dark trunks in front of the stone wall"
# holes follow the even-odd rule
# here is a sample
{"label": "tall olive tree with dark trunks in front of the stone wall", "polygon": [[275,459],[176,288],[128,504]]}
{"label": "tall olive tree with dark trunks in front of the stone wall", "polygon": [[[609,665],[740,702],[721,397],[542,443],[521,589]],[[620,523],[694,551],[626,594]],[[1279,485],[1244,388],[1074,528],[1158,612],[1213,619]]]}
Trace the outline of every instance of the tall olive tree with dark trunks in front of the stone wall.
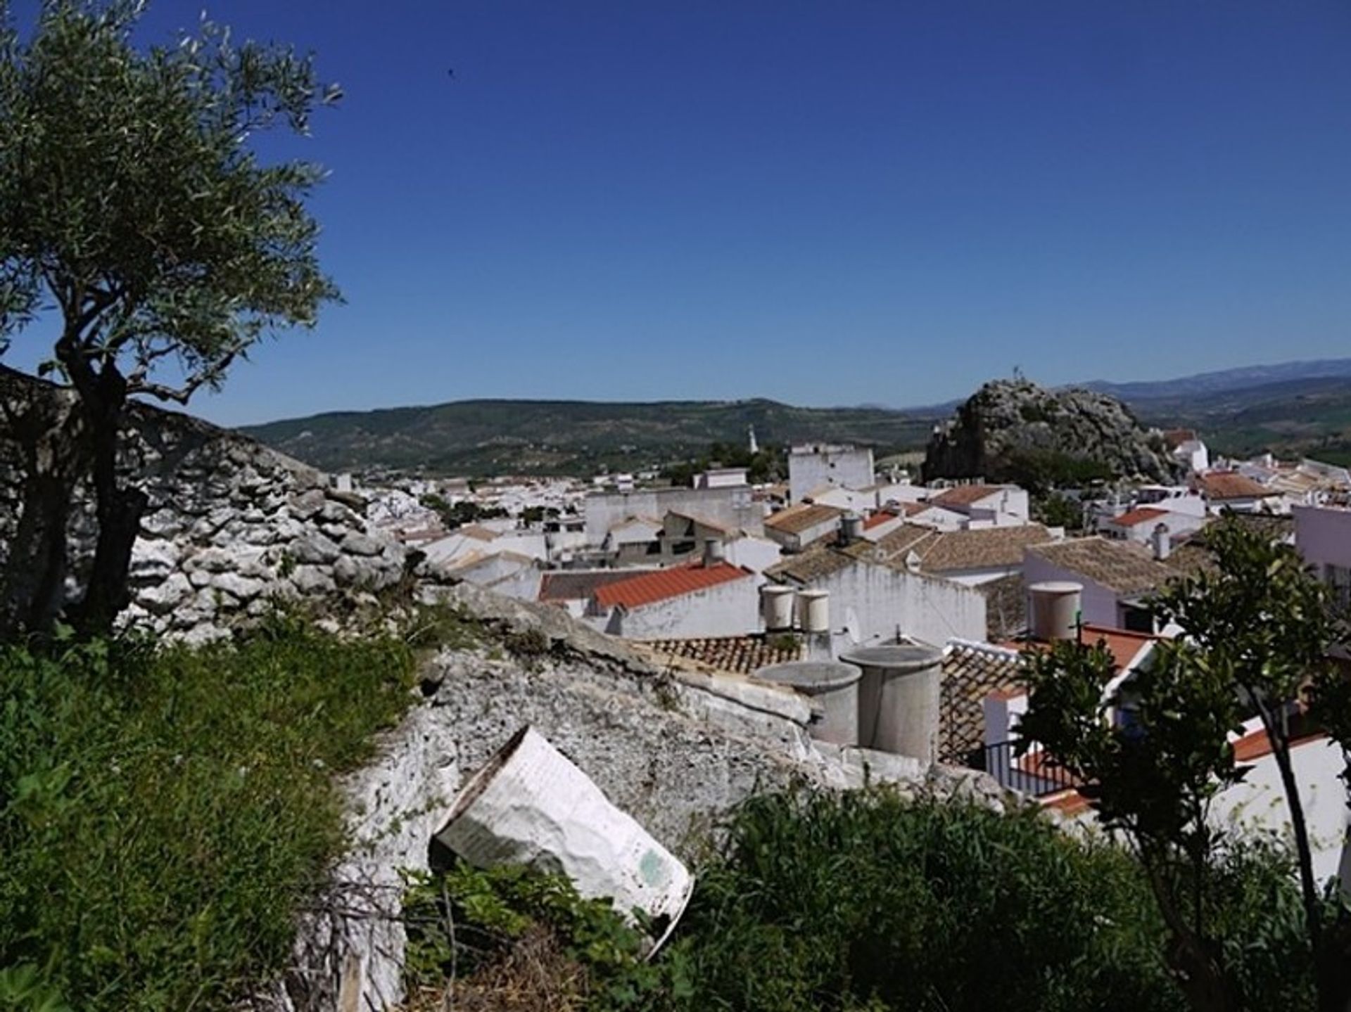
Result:
{"label": "tall olive tree with dark trunks in front of the stone wall", "polygon": [[41,331],[51,354],[39,372],[61,388],[42,405],[4,399],[27,473],[0,584],[11,635],[61,607],[81,482],[99,540],[77,620],[99,630],[126,604],[146,503],[116,467],[128,399],[185,404],[259,338],[312,326],[338,297],[305,208],[322,170],[263,163],[251,147],[269,128],[307,134],[336,88],[309,57],[236,43],[205,19],[174,45],[138,47],[145,8],[45,0],[20,32],[0,0],[0,354]]}

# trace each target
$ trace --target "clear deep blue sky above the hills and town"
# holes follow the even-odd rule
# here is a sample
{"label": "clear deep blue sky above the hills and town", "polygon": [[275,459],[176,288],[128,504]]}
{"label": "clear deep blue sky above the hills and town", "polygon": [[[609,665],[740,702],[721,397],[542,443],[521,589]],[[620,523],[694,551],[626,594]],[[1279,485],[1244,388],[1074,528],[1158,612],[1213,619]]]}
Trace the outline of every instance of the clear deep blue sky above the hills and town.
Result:
{"label": "clear deep blue sky above the hills and town", "polygon": [[1351,355],[1344,0],[207,7],[346,92],[286,150],[347,303],[218,422]]}

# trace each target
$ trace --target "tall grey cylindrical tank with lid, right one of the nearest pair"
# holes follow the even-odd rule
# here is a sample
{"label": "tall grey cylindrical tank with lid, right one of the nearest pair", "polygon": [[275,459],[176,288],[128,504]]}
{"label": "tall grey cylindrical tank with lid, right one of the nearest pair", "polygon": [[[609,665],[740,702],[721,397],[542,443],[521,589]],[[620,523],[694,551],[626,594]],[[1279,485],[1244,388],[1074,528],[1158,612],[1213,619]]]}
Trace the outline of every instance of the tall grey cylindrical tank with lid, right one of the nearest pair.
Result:
{"label": "tall grey cylindrical tank with lid, right one of the nearest pair", "polygon": [[943,653],[920,646],[859,647],[840,659],[863,669],[858,686],[858,743],[934,762]]}

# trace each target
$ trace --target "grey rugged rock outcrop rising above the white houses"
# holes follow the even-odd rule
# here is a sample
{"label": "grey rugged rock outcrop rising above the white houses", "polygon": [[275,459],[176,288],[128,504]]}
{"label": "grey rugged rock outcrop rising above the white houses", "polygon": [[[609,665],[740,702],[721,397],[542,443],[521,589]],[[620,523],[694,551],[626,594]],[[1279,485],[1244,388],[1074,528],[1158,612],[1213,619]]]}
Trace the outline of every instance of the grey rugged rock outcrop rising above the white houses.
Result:
{"label": "grey rugged rock outcrop rising above the white houses", "polygon": [[1092,478],[1174,476],[1162,438],[1106,393],[1048,390],[1027,380],[985,384],[938,426],[924,480],[985,478],[1031,488]]}

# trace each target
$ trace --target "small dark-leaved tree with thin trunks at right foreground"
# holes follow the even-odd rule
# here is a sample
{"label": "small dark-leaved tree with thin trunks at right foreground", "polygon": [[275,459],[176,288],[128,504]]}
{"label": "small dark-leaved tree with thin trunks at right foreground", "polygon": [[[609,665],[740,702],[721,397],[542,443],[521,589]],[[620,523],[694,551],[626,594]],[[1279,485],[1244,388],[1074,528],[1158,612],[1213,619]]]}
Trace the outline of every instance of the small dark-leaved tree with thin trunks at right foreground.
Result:
{"label": "small dark-leaved tree with thin trunks at right foreground", "polygon": [[[1215,828],[1210,803],[1243,781],[1229,740],[1260,719],[1290,811],[1302,924],[1319,1008],[1351,1000],[1351,911],[1320,894],[1290,749],[1302,724],[1351,744],[1344,676],[1328,659],[1335,619],[1327,589],[1298,554],[1225,520],[1206,532],[1213,573],[1183,577],[1155,601],[1181,630],[1155,644],[1151,663],[1116,692],[1111,654],[1056,643],[1025,655],[1031,689],[1019,726],[1023,747],[1085,786],[1102,823],[1138,853],[1169,926],[1169,959],[1197,1009],[1244,1008],[1242,966],[1221,944],[1212,896],[1242,840]],[[1124,715],[1124,716],[1123,716]]]}

